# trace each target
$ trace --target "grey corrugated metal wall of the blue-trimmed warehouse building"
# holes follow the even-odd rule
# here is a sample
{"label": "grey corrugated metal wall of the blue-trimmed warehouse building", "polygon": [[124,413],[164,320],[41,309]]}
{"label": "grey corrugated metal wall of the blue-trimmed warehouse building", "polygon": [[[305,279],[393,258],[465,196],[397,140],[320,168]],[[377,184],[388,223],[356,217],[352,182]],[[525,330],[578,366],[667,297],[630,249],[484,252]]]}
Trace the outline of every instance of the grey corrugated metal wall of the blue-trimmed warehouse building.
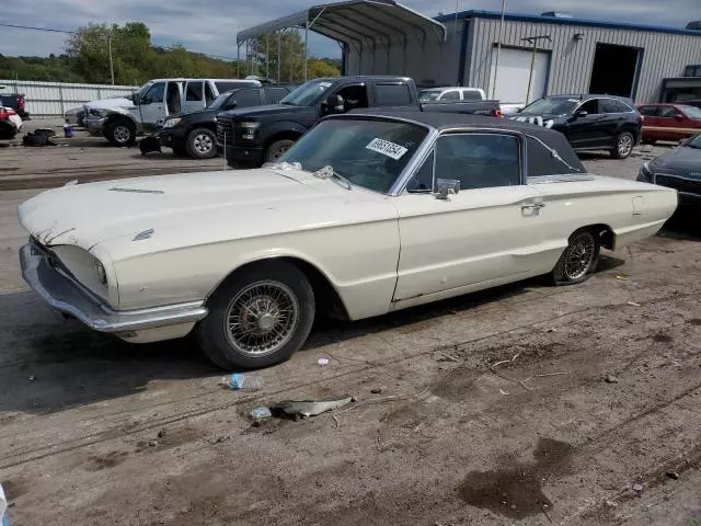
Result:
{"label": "grey corrugated metal wall of the blue-trimmed warehouse building", "polygon": [[[496,54],[499,21],[475,18],[471,23],[474,28],[469,35],[468,49],[471,53],[466,57],[464,83],[487,91],[491,89],[490,68]],[[582,33],[583,38],[575,41],[575,33]],[[685,66],[701,64],[701,36],[652,31],[507,20],[504,22],[502,45],[528,48],[528,44],[521,38],[537,35],[550,35],[552,38],[552,43],[541,41],[538,46],[541,50],[552,52],[549,94],[588,92],[597,43],[643,49],[635,102],[656,102],[663,78],[680,77]],[[452,77],[457,82],[457,75]]]}

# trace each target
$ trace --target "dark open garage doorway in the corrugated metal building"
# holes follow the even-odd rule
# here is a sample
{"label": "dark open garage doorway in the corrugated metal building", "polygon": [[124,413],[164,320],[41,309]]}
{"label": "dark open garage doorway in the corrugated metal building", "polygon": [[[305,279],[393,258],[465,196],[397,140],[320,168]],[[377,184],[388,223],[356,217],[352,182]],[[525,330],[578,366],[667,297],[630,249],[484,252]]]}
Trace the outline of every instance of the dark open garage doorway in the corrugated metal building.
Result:
{"label": "dark open garage doorway in the corrugated metal building", "polygon": [[640,55],[636,47],[598,43],[589,93],[633,98]]}

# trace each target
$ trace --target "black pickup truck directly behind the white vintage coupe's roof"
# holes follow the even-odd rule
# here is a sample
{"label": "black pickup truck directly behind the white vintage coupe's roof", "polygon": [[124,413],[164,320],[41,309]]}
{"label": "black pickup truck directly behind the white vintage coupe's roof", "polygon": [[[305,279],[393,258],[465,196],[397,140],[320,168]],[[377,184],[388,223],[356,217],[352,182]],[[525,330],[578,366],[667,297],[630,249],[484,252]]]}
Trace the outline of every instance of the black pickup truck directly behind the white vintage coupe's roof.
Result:
{"label": "black pickup truck directly behind the white vintage coupe's roof", "polygon": [[322,78],[300,85],[279,104],[220,113],[217,144],[229,164],[260,167],[279,159],[326,115],[367,107],[501,116],[497,101],[420,103],[416,84],[406,77]]}

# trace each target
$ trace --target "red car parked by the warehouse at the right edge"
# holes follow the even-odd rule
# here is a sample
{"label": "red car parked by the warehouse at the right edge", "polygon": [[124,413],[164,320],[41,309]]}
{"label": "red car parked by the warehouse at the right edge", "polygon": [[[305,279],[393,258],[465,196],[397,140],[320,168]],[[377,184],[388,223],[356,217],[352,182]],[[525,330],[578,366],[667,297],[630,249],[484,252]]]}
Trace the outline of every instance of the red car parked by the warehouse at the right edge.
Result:
{"label": "red car parked by the warehouse at the right edge", "polygon": [[642,104],[643,142],[681,140],[701,132],[701,110],[685,104]]}

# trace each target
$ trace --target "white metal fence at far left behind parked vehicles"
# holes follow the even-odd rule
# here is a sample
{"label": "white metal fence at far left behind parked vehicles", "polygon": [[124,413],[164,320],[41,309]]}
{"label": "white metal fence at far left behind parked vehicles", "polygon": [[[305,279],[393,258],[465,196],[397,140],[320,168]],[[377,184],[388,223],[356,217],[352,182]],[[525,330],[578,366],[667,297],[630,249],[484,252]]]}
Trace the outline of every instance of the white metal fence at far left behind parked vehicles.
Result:
{"label": "white metal fence at far left behind parked vehicles", "polygon": [[66,110],[89,101],[128,95],[131,85],[72,84],[33,80],[2,80],[0,93],[24,93],[31,116],[62,116]]}

